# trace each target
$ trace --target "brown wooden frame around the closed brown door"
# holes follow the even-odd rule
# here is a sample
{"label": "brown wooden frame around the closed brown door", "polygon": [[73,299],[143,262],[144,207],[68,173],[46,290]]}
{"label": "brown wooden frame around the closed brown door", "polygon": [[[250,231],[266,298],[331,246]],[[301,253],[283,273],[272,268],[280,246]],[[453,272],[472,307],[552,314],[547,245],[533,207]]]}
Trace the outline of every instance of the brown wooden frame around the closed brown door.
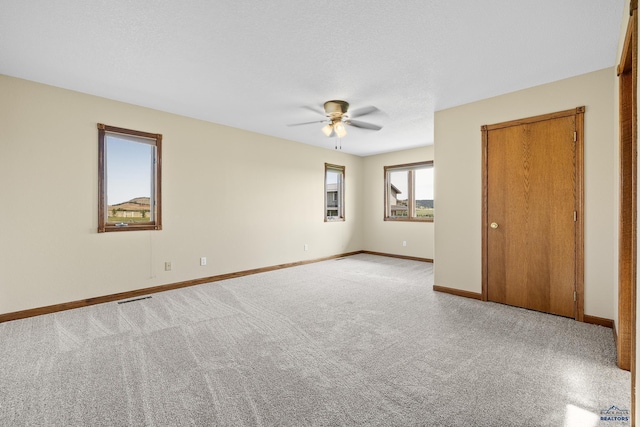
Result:
{"label": "brown wooden frame around the closed brown door", "polygon": [[556,113],[543,114],[540,116],[528,117],[524,119],[511,120],[508,122],[493,125],[484,125],[480,128],[482,132],[482,300],[489,299],[489,265],[488,265],[488,231],[489,231],[489,201],[488,201],[488,155],[489,131],[511,126],[519,126],[553,120],[561,117],[575,116],[576,137],[575,137],[575,165],[576,165],[576,245],[575,245],[575,291],[576,301],[574,302],[574,318],[577,321],[584,321],[584,111],[585,107],[577,107],[571,110],[558,111]]}

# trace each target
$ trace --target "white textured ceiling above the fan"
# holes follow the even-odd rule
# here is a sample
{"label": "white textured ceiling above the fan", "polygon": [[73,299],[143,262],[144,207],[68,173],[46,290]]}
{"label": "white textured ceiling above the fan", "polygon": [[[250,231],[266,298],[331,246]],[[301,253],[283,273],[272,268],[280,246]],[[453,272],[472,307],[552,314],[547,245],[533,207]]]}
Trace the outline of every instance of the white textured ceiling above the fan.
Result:
{"label": "white textured ceiling above the fan", "polygon": [[287,124],[373,105],[384,128],[342,139],[365,156],[432,144],[436,110],[615,65],[625,1],[0,0],[0,74],[328,149]]}

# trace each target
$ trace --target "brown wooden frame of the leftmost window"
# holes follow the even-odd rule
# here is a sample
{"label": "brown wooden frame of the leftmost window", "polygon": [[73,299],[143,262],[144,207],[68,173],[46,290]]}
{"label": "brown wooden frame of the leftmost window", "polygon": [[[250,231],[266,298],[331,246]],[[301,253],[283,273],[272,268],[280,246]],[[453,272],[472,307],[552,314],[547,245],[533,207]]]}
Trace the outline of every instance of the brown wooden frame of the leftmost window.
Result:
{"label": "brown wooden frame of the leftmost window", "polygon": [[[150,210],[153,221],[127,223],[126,226],[109,222],[108,202],[107,202],[107,161],[106,161],[106,136],[107,134],[120,134],[135,136],[155,143],[150,143],[154,149],[154,176],[153,176],[153,206]],[[139,231],[139,230],[162,230],[162,135],[157,133],[142,132],[132,129],[125,129],[116,126],[109,126],[98,123],[98,233],[110,231]]]}

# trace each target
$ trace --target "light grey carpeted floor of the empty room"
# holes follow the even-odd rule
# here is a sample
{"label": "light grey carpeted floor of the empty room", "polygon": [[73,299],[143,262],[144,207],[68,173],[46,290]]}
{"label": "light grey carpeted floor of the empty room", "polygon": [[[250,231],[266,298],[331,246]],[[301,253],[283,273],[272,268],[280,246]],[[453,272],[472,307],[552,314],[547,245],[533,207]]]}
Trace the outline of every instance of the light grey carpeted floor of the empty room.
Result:
{"label": "light grey carpeted floor of the empty room", "polygon": [[432,285],[361,254],[2,323],[0,425],[628,425],[610,329]]}

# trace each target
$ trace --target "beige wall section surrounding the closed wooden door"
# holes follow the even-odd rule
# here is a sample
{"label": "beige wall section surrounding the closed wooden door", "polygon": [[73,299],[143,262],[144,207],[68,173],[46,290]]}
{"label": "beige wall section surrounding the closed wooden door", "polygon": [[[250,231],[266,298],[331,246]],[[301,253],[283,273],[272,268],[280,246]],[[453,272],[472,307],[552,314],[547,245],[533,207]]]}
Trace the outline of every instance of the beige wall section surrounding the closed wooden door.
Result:
{"label": "beige wall section surrounding the closed wooden door", "polygon": [[480,126],[586,106],[585,313],[613,318],[615,218],[613,68],[435,115],[435,283],[481,292]]}

